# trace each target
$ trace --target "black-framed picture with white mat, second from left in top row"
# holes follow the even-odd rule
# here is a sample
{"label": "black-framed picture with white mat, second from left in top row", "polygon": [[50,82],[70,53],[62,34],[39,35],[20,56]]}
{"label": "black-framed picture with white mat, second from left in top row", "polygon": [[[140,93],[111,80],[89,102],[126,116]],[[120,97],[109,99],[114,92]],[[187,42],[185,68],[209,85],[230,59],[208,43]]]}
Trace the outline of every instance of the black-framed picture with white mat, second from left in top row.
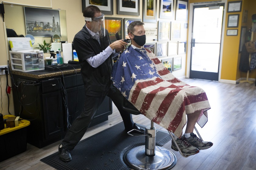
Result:
{"label": "black-framed picture with white mat, second from left in top row", "polygon": [[117,14],[140,15],[140,0],[117,0]]}

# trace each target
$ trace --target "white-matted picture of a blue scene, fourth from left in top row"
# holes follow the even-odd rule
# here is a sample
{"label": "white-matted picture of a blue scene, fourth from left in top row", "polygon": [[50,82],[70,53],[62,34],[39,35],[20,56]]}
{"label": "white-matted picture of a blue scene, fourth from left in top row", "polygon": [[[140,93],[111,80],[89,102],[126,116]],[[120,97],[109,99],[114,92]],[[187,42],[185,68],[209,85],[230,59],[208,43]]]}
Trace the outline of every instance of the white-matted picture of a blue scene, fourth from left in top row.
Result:
{"label": "white-matted picture of a blue scene, fourth from left in top row", "polygon": [[174,0],[160,0],[159,18],[174,19]]}

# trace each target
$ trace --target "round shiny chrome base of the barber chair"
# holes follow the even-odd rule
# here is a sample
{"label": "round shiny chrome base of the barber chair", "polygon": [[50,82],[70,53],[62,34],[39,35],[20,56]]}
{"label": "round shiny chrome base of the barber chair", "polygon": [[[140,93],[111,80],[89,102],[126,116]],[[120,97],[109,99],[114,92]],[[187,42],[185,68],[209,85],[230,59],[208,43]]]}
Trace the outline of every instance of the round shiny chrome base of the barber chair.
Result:
{"label": "round shiny chrome base of the barber chair", "polygon": [[135,170],[169,170],[176,165],[176,156],[166,148],[155,146],[155,156],[145,155],[145,145],[137,146],[124,155],[124,161]]}

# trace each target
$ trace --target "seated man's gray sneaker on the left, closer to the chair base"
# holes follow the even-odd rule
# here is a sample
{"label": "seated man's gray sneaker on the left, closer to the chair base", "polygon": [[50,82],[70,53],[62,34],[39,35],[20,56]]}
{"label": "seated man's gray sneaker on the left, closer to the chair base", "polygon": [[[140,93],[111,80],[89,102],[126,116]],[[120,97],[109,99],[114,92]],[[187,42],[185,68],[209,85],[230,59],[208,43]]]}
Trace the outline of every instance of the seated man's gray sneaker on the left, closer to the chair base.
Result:
{"label": "seated man's gray sneaker on the left, closer to the chair base", "polygon": [[[174,139],[173,139],[174,140]],[[178,151],[178,148],[176,147],[176,144],[174,143],[174,141],[172,140],[172,149],[174,151]],[[181,152],[186,155],[186,156],[189,156],[189,155],[194,155],[194,154],[197,154],[199,152],[199,150],[192,146],[188,141],[187,139],[185,138],[185,136],[183,135],[180,139],[177,138],[176,140],[178,146],[180,147],[180,150]]]}

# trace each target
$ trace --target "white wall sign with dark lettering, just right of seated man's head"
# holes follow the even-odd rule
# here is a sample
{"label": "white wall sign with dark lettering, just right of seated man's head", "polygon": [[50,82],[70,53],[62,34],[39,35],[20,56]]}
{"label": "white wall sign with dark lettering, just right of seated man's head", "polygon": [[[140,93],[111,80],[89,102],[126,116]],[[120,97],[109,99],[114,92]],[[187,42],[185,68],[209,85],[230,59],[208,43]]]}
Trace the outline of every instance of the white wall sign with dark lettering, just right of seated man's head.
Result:
{"label": "white wall sign with dark lettering, just right of seated man's head", "polygon": [[144,29],[146,31],[147,42],[157,41],[157,25],[156,22],[144,22]]}

